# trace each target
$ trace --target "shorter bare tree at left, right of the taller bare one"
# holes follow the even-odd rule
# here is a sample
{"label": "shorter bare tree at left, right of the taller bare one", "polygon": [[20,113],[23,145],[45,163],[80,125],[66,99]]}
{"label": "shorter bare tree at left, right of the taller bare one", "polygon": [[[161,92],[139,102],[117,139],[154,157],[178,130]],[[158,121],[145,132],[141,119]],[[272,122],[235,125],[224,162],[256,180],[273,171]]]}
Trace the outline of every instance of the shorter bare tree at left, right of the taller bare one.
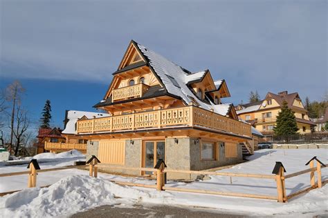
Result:
{"label": "shorter bare tree at left, right of the taller bare one", "polygon": [[30,120],[28,119],[27,112],[21,110],[21,107],[17,105],[16,107],[16,115],[13,128],[9,127],[12,130],[12,135],[15,137],[16,147],[15,147],[15,156],[18,154],[19,146],[21,142],[24,140],[24,132],[28,130],[28,126],[30,125]]}

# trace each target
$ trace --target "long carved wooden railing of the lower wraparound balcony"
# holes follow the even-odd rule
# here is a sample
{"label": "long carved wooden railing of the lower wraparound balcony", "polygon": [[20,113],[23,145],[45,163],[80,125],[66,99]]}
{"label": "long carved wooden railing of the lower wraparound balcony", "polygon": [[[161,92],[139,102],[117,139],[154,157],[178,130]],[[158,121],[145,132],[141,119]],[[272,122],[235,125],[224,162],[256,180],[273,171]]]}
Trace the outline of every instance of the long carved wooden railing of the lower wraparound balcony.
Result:
{"label": "long carved wooden railing of the lower wraparound balcony", "polygon": [[195,106],[86,119],[78,121],[77,132],[78,134],[119,132],[122,130],[161,129],[179,126],[202,126],[251,137],[249,124]]}

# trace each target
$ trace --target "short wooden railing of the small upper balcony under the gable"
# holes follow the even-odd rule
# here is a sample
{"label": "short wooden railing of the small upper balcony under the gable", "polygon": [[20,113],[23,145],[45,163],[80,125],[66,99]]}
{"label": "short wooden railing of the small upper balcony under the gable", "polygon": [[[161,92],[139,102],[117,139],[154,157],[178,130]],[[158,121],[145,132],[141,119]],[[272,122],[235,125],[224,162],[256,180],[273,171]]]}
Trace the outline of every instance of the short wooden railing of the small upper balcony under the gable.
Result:
{"label": "short wooden railing of the small upper balcony under the gable", "polygon": [[111,102],[143,97],[143,94],[147,92],[148,88],[149,86],[145,85],[144,83],[138,83],[134,86],[114,89],[111,95]]}

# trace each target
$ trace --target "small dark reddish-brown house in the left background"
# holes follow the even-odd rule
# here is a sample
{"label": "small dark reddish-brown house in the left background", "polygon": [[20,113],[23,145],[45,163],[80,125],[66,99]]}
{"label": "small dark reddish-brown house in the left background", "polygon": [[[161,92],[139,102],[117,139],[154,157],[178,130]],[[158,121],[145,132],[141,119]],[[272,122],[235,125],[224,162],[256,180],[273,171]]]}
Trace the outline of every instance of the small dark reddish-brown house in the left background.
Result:
{"label": "small dark reddish-brown house in the left background", "polygon": [[37,135],[37,143],[34,146],[37,147],[37,154],[48,152],[45,148],[46,142],[49,143],[63,143],[65,138],[62,136],[62,130],[60,128],[39,128],[39,134]]}

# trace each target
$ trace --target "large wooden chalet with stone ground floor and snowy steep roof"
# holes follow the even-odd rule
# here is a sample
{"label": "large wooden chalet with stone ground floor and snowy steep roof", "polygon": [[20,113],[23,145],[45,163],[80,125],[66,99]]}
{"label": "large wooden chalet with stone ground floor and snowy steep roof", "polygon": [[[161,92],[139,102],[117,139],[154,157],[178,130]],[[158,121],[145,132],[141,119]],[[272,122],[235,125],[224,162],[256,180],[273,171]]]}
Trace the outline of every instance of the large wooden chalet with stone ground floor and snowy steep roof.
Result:
{"label": "large wooden chalet with stone ground floor and snowy steep roof", "polygon": [[82,117],[76,136],[89,140],[87,158],[96,155],[114,166],[154,168],[158,159],[180,170],[235,164],[242,161],[239,143],[251,151],[253,139],[233,104],[221,102],[225,97],[230,97],[226,81],[214,81],[210,70],[190,72],[131,41],[104,98],[94,106],[111,116]]}

